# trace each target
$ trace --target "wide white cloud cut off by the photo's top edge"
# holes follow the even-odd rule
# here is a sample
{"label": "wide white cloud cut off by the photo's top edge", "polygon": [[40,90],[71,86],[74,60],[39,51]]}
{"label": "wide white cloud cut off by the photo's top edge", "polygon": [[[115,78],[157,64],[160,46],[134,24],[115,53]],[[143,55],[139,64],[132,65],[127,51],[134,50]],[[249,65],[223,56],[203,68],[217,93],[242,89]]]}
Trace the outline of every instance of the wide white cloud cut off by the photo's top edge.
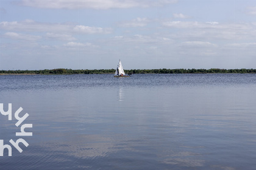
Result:
{"label": "wide white cloud cut off by the photo's top edge", "polygon": [[177,0],[23,0],[20,5],[46,9],[128,9],[172,4]]}

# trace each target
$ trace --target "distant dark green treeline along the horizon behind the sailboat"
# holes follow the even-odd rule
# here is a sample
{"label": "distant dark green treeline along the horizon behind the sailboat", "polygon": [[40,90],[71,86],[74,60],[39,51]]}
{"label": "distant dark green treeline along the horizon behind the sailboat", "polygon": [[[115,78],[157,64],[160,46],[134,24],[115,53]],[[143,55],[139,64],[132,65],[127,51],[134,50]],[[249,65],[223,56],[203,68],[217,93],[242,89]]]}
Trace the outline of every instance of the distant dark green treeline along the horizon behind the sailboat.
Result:
{"label": "distant dark green treeline along the horizon behind the sailboat", "polygon": [[[124,70],[127,74],[132,73],[256,73],[256,69],[132,69]],[[0,74],[102,74],[115,73],[115,69],[99,70],[72,70],[72,69],[52,69],[52,70],[0,70]]]}

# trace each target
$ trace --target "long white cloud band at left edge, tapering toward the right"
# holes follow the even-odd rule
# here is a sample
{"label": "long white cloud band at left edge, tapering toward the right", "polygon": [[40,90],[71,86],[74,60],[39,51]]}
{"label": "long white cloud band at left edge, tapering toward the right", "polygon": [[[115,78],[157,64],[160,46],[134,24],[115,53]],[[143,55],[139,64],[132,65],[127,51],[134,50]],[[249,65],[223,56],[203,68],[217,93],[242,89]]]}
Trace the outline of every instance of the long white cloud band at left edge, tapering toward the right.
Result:
{"label": "long white cloud band at left edge, tapering toward the right", "polygon": [[57,24],[35,22],[32,20],[26,21],[3,21],[0,22],[0,29],[19,32],[54,32],[54,33],[111,33],[110,28],[89,27],[86,25],[71,25],[71,24]]}

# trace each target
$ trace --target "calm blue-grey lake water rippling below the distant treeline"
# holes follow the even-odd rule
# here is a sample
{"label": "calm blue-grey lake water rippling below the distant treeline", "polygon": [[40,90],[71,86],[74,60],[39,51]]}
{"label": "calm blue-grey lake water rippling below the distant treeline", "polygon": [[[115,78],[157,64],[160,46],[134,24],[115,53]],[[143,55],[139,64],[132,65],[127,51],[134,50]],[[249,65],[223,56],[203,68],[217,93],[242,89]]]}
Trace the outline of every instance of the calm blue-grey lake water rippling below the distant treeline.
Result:
{"label": "calm blue-grey lake water rippling below the distant treeline", "polygon": [[1,75],[0,140],[29,146],[0,169],[255,169],[255,98],[256,74]]}

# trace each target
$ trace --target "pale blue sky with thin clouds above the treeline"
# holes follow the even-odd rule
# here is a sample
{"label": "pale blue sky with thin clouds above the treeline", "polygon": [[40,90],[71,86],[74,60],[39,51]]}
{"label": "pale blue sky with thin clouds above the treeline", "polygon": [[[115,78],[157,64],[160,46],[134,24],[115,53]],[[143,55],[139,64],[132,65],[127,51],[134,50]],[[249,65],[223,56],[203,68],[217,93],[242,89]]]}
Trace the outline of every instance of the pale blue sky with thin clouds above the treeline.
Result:
{"label": "pale blue sky with thin clouds above the treeline", "polygon": [[0,70],[255,69],[256,1],[0,0]]}

